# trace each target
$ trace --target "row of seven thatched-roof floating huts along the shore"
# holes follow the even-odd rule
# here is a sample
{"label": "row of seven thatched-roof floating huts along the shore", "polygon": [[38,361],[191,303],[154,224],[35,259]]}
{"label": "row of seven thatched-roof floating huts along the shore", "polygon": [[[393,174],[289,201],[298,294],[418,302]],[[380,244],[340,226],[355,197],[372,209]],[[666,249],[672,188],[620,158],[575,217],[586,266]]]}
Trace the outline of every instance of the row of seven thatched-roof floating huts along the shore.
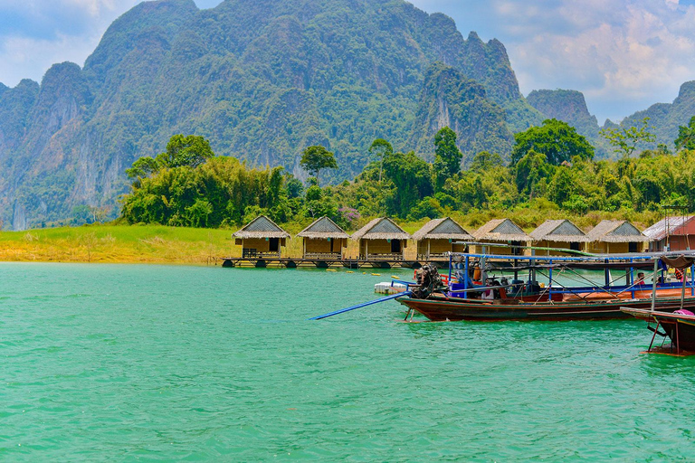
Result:
{"label": "row of seven thatched-roof floating huts along the shore", "polygon": [[[233,237],[235,243],[242,246],[243,260],[281,259],[282,248],[290,233],[262,215],[234,232]],[[528,245],[594,253],[642,252],[654,241],[625,220],[605,220],[587,232],[568,220],[547,220],[527,233],[509,219],[491,220],[477,231],[469,232],[451,217],[427,222],[412,236],[386,217],[368,222],[352,236],[328,217],[321,217],[300,231],[297,237],[302,239],[301,259],[328,262],[346,259],[349,239],[358,243],[357,260],[394,262],[405,260],[408,241],[415,241],[418,261],[447,260],[449,251],[482,251],[480,244],[467,245],[462,241],[490,243],[487,252],[500,255],[528,254],[528,249],[514,247]],[[499,247],[494,244],[499,244]],[[535,253],[563,254],[551,249],[537,249]]]}

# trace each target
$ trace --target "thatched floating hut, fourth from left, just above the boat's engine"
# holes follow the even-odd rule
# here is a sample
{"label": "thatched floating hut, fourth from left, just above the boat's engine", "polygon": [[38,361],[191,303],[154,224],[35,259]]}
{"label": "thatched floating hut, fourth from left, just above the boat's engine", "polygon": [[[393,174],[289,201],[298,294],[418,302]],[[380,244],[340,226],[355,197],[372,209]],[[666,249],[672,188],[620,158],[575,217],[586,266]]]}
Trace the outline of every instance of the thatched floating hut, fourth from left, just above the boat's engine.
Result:
{"label": "thatched floating hut, fourth from left, just above the boat's engine", "polygon": [[473,241],[473,236],[451,217],[434,219],[413,234],[417,241],[417,260],[448,260],[447,252],[464,252],[465,244],[456,241]]}

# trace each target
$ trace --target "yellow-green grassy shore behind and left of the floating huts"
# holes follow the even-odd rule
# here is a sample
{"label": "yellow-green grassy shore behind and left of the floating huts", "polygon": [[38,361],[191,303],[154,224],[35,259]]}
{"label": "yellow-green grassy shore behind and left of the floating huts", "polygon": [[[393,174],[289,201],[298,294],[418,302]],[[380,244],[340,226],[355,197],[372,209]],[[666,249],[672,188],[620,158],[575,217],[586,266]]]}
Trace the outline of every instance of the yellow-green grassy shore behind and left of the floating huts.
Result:
{"label": "yellow-green grassy shore behind and left of the floating huts", "polygon": [[[527,231],[547,218],[560,218],[559,213],[505,213]],[[475,216],[458,217],[469,231],[477,229],[482,223],[496,218],[500,213],[480,213]],[[538,217],[536,217],[538,215]],[[616,213],[590,213],[581,217],[570,217],[585,229],[602,219],[618,219]],[[627,217],[641,227],[658,220],[656,213],[634,214]],[[468,220],[465,220],[468,219]],[[427,220],[418,222],[399,222],[405,231],[413,234]],[[538,223],[537,223],[538,222]],[[283,225],[295,236],[303,226],[299,223]],[[102,263],[167,263],[213,265],[221,263],[220,258],[241,257],[242,248],[236,246],[231,230],[195,229],[167,227],[163,225],[90,225],[81,227],[62,227],[30,231],[0,231],[0,260],[2,261],[43,261],[43,262],[102,262]],[[352,231],[348,231],[352,232]],[[357,242],[348,241],[348,257],[357,256]],[[302,242],[300,238],[288,240],[283,254],[300,257]],[[409,241],[405,249],[406,259],[413,259],[416,248]]]}

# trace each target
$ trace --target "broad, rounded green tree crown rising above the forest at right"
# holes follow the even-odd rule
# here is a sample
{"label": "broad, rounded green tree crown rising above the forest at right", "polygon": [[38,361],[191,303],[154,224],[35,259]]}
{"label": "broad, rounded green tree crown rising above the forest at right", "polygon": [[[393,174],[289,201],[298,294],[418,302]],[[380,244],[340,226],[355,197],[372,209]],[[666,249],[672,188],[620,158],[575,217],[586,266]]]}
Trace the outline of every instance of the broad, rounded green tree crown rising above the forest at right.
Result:
{"label": "broad, rounded green tree crown rising above the forest at right", "polygon": [[576,133],[576,129],[557,119],[546,119],[541,127],[532,127],[514,136],[516,145],[511,152],[511,165],[531,151],[545,155],[547,162],[560,165],[579,156],[582,159],[594,158],[594,146],[585,137]]}

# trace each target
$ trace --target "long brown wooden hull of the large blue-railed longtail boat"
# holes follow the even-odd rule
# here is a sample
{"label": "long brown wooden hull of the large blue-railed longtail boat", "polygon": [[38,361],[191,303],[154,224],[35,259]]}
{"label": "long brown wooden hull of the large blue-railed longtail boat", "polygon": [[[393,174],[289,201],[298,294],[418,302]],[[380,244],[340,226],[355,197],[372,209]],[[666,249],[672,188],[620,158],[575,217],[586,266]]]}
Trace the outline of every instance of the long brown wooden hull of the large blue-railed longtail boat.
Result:
{"label": "long brown wooden hull of the large blue-railed longtail boat", "polygon": [[[650,308],[651,299],[610,299],[563,302],[481,301],[460,298],[398,298],[398,302],[432,321],[581,320],[628,318],[621,307]],[[656,307],[680,304],[681,298],[659,298]],[[695,298],[685,299],[685,308],[695,308]]]}

